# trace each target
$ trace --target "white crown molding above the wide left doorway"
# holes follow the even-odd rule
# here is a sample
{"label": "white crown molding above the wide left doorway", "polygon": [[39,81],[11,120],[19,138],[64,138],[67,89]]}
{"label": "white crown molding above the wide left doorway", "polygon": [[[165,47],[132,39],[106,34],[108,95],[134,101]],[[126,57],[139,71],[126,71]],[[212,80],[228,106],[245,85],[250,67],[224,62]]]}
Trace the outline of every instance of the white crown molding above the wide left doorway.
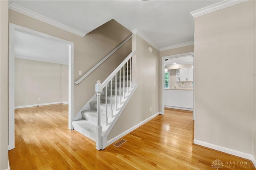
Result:
{"label": "white crown molding above the wide left doorway", "polygon": [[63,29],[65,31],[68,31],[70,33],[76,34],[76,35],[78,35],[80,37],[84,37],[86,35],[86,33],[83,33],[81,31],[78,31],[78,30],[76,30],[74,28],[71,28],[71,27],[69,27],[67,25],[64,25],[62,23],[54,21],[54,20],[52,20],[50,18],[47,18],[45,16],[42,16],[40,14],[37,14],[36,12],[33,12],[33,11],[28,10],[26,8],[23,8],[22,6],[19,6],[19,5],[16,5],[16,4],[9,4],[9,9],[14,10],[16,12],[20,12],[20,13],[26,15],[26,16],[30,16],[32,18],[35,18],[36,20],[43,21],[45,23],[48,23],[50,25],[53,25],[55,27],[58,27],[58,28]]}

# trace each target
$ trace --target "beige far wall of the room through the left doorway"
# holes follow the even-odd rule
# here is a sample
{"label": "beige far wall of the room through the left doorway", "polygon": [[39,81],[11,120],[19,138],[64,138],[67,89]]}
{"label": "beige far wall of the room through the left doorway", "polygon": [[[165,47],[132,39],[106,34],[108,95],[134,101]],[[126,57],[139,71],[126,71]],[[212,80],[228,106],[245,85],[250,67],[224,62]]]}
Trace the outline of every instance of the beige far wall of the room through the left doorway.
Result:
{"label": "beige far wall of the room through the left doorway", "polygon": [[67,101],[66,78],[67,65],[15,58],[15,107]]}

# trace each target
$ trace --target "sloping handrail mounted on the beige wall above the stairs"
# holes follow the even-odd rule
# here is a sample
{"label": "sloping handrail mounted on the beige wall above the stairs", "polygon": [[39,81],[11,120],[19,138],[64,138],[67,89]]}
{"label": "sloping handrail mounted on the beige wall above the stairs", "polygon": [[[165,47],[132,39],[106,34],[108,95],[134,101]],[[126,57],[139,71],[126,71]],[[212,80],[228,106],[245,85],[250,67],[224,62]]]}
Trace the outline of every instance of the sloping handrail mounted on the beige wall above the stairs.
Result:
{"label": "sloping handrail mounted on the beige wall above the stairs", "polygon": [[102,64],[108,57],[110,57],[114,52],[116,52],[122,45],[124,45],[129,39],[132,38],[132,35],[130,35],[126,40],[124,40],[120,45],[118,45],[113,51],[111,51],[104,59],[102,59],[99,63],[97,63],[94,67],[92,67],[88,72],[86,72],[82,77],[80,77],[75,84],[79,84],[86,78],[89,74],[91,74],[100,64]]}

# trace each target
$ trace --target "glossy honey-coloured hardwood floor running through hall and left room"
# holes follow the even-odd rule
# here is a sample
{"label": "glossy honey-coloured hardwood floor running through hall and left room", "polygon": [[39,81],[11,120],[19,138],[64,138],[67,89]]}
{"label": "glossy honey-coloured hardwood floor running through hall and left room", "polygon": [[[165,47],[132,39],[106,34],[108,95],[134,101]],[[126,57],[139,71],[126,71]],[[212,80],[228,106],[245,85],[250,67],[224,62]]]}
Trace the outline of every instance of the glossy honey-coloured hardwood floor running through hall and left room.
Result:
{"label": "glossy honey-coloured hardwood floor running through hall and left room", "polygon": [[67,105],[16,109],[10,168],[214,170],[212,162],[218,159],[224,164],[219,170],[254,169],[249,160],[193,145],[191,111],[166,109],[165,115],[158,115],[123,139],[127,142],[118,148],[111,145],[98,151],[92,140],[68,129]]}

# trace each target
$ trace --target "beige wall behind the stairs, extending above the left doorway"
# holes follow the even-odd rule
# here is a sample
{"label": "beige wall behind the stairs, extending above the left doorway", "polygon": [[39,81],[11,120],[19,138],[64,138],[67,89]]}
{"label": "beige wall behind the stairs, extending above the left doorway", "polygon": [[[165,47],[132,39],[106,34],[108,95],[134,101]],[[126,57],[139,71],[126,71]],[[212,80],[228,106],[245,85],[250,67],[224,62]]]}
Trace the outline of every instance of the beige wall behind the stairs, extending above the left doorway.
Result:
{"label": "beige wall behind the stairs, extending above the left doorway", "polygon": [[[33,29],[54,37],[58,37],[74,43],[74,81],[78,80],[78,71],[85,74],[96,63],[103,59],[110,51],[117,47],[131,32],[110,20],[104,25],[88,33],[85,37],[79,37],[29,16],[9,10],[9,22],[29,29]],[[92,72],[79,85],[74,85],[74,116],[82,109],[95,94],[96,80],[104,81],[121,61],[131,52],[131,40],[114,53],[108,60]]]}

